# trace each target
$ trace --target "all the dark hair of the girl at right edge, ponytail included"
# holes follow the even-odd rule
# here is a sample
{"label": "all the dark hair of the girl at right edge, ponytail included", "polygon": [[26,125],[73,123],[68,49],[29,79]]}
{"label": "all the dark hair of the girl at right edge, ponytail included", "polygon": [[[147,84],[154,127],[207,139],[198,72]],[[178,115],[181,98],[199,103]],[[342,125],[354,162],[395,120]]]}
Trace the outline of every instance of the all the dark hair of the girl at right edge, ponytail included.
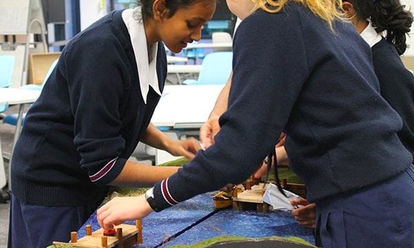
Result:
{"label": "all the dark hair of the girl at right edge, ponytail included", "polygon": [[406,34],[410,32],[413,14],[404,10],[400,0],[344,0],[353,4],[359,19],[371,18],[377,32],[386,30],[386,40],[392,43],[398,54],[407,48]]}

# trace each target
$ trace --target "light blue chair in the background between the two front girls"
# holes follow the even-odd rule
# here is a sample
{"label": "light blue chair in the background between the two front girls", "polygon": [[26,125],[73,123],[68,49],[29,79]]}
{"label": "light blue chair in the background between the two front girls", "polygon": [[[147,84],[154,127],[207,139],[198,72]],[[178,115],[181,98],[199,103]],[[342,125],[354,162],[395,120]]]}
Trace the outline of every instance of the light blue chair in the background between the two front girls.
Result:
{"label": "light blue chair in the background between the two front girls", "polygon": [[233,52],[213,52],[207,54],[201,65],[197,80],[186,79],[186,85],[226,84],[232,70]]}

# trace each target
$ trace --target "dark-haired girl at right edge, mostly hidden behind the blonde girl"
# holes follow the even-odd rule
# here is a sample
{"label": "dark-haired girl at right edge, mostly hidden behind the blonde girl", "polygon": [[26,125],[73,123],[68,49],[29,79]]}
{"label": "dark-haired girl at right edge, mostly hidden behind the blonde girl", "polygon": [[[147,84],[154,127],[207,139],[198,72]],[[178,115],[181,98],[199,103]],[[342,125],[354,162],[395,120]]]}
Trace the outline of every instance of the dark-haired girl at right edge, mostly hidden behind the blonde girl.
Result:
{"label": "dark-haired girl at right edge, mostly hidden behind the blonde girl", "polygon": [[[400,59],[407,48],[406,35],[410,32],[413,14],[404,10],[397,0],[345,0],[342,7],[371,47],[381,95],[402,118],[402,129],[397,135],[414,154],[414,76]],[[314,227],[315,204],[305,199],[294,200],[293,204],[306,205],[292,211],[299,224]]]}

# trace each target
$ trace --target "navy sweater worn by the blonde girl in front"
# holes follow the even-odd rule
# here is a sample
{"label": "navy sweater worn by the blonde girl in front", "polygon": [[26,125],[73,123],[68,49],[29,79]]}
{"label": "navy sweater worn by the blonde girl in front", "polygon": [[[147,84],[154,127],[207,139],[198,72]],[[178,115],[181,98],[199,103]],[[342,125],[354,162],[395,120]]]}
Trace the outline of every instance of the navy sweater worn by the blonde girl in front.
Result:
{"label": "navy sweater worn by the blonde girl in front", "polygon": [[350,23],[297,3],[246,18],[233,44],[228,110],[215,145],[154,187],[155,205],[241,183],[287,134],[290,166],[311,202],[373,185],[413,162],[402,121],[380,96],[371,50]]}

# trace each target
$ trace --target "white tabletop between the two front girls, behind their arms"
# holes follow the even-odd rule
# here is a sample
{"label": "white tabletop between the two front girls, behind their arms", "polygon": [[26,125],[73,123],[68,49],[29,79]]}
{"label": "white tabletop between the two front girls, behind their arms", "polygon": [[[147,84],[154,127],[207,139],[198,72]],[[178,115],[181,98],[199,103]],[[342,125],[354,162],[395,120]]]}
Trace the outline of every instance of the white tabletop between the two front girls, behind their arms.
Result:
{"label": "white tabletop between the two front girls, behind their arms", "polygon": [[166,85],[151,122],[155,126],[201,127],[224,85]]}

